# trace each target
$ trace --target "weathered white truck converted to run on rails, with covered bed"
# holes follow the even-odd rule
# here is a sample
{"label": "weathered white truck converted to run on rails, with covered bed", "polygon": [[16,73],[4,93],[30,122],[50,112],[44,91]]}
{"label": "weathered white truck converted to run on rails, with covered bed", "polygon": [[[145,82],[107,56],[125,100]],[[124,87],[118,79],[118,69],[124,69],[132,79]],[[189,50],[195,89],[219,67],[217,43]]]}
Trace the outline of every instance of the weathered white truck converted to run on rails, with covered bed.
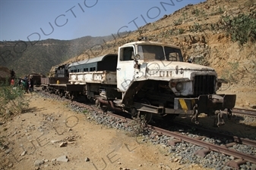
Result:
{"label": "weathered white truck converted to run on rails, with covered bed", "polygon": [[216,71],[184,62],[181,48],[175,45],[130,42],[119,47],[118,54],[67,67],[68,81],[62,83],[65,88],[56,85],[53,91],[69,97],[83,94],[97,107],[144,116],[147,122],[153,116],[173,119],[186,114],[198,124],[198,115],[206,113],[216,115],[217,125],[223,125],[223,110],[231,114],[235,107],[235,94],[216,94],[223,82]]}

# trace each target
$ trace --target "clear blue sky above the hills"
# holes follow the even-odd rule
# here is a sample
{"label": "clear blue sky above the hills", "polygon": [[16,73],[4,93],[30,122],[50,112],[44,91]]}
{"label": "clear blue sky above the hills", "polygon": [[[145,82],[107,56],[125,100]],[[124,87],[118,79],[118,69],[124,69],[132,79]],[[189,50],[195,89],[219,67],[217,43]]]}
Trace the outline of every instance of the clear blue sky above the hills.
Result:
{"label": "clear blue sky above the hills", "polygon": [[0,0],[0,41],[70,40],[133,31],[205,0]]}

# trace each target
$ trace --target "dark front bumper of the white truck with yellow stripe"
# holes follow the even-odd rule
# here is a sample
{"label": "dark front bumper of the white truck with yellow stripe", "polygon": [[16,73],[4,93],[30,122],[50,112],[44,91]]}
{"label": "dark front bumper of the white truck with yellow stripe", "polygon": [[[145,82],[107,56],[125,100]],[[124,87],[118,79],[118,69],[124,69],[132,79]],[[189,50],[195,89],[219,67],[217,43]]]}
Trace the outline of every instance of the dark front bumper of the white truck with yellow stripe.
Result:
{"label": "dark front bumper of the white truck with yellow stripe", "polygon": [[193,110],[197,104],[198,113],[209,113],[215,110],[235,107],[235,94],[206,94],[194,98],[175,97],[175,110]]}

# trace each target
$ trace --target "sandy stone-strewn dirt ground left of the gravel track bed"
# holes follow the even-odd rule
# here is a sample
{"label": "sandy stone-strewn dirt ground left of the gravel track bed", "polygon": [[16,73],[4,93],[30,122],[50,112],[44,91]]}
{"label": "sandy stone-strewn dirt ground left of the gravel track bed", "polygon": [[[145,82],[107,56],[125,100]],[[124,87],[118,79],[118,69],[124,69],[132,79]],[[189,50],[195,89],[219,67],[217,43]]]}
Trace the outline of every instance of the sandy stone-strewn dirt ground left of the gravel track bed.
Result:
{"label": "sandy stone-strewn dirt ground left of the gravel track bed", "polygon": [[[5,169],[205,169],[179,165],[163,146],[141,144],[125,132],[95,125],[65,102],[37,95],[27,113],[1,127],[8,142],[0,155]],[[68,162],[58,161],[60,156]]]}

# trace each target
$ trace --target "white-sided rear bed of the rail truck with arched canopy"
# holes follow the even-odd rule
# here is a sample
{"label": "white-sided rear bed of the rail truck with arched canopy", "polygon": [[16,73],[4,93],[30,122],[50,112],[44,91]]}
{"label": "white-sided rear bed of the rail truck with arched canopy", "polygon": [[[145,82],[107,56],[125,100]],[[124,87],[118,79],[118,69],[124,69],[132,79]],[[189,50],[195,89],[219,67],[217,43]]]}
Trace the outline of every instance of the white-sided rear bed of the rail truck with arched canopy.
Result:
{"label": "white-sided rear bed of the rail truck with arched canopy", "polygon": [[100,96],[100,93],[108,89],[107,95],[113,98],[121,93],[116,91],[116,66],[118,55],[105,54],[89,60],[71,63],[68,67],[69,82],[74,85],[84,85],[84,95],[89,99]]}

